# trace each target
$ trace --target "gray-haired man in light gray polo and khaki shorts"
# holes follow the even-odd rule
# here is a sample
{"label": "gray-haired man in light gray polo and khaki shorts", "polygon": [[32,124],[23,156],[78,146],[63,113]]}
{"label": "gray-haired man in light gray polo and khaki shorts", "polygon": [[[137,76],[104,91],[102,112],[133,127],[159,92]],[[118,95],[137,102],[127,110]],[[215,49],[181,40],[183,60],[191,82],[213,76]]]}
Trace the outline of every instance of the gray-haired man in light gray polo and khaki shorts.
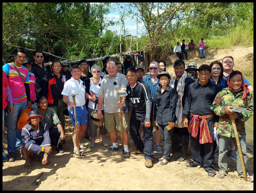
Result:
{"label": "gray-haired man in light gray polo and khaki shorts", "polygon": [[[121,119],[119,117],[120,107],[119,107],[119,95],[117,94],[118,90],[124,90],[126,92],[128,81],[123,74],[117,72],[117,66],[113,61],[109,61],[106,65],[106,71],[108,75],[102,79],[99,98],[98,98],[98,118],[102,119],[101,107],[104,102],[104,120],[105,127],[109,132],[110,138],[113,142],[113,146],[106,149],[106,151],[116,151],[118,150],[117,143],[117,130],[121,133]],[[126,96],[122,97],[121,103],[124,105]],[[126,109],[122,109],[125,112]],[[123,119],[123,148],[124,148],[124,157],[130,157],[128,150],[128,113],[124,113]]]}

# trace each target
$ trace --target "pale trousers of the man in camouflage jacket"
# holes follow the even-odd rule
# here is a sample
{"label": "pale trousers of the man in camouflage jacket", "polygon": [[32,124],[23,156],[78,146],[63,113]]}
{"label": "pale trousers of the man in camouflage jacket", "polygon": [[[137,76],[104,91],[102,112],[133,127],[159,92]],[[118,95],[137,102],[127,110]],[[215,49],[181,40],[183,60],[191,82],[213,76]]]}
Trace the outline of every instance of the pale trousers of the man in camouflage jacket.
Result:
{"label": "pale trousers of the man in camouflage jacket", "polygon": [[[235,145],[236,169],[238,172],[238,176],[241,177],[241,176],[243,176],[242,166],[241,166],[240,156],[239,156],[239,152],[237,149],[235,137],[225,137],[225,136],[219,135],[219,160],[218,160],[219,172],[224,173],[226,175],[228,174],[227,147],[228,147],[230,140],[233,140],[234,145]],[[247,160],[248,160],[248,155],[247,155],[247,151],[246,151],[246,135],[244,135],[243,137],[239,137],[239,142],[241,144],[242,156],[243,156],[244,166],[245,166],[245,170],[246,170],[246,164],[247,164]],[[248,175],[248,172],[246,172],[246,174]]]}

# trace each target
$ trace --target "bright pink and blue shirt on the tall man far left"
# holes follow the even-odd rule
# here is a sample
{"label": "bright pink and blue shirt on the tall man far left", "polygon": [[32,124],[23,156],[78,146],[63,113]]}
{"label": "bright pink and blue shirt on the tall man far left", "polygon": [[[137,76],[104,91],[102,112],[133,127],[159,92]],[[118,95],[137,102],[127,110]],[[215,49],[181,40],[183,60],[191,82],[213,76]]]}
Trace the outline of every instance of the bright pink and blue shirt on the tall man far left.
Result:
{"label": "bright pink and blue shirt on the tall man far left", "polygon": [[[3,71],[5,71],[6,76],[9,77],[9,86],[12,92],[13,102],[19,103],[27,101],[25,85],[12,64],[15,65],[14,63],[5,64]],[[29,70],[24,66],[17,66],[17,69],[20,71],[24,82],[29,83]]]}

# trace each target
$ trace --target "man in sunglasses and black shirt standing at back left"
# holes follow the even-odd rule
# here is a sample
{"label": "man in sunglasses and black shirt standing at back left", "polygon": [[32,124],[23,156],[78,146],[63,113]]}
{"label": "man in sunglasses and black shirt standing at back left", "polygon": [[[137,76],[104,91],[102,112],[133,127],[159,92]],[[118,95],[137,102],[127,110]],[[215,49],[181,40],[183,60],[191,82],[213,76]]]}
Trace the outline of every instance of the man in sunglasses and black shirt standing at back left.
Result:
{"label": "man in sunglasses and black shirt standing at back left", "polygon": [[31,72],[36,77],[36,88],[38,91],[38,95],[41,95],[40,92],[42,90],[43,78],[47,74],[47,68],[43,64],[43,61],[44,61],[43,52],[40,50],[35,51],[34,52],[34,60],[35,60],[35,62],[32,63]]}

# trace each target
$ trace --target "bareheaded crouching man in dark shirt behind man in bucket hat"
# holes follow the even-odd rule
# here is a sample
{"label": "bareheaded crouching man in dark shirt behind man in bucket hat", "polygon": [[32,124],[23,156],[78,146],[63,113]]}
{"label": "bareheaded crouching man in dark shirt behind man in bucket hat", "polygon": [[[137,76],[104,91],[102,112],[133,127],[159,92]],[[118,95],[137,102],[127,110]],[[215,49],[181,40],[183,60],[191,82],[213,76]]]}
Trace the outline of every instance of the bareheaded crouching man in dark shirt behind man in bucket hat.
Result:
{"label": "bareheaded crouching man in dark shirt behind man in bucket hat", "polygon": [[48,107],[48,101],[45,96],[38,98],[37,105],[39,107],[39,114],[44,117],[42,122],[48,125],[52,145],[56,145],[56,150],[59,151],[59,153],[64,153],[62,143],[66,143],[66,136],[57,113],[54,109]]}

